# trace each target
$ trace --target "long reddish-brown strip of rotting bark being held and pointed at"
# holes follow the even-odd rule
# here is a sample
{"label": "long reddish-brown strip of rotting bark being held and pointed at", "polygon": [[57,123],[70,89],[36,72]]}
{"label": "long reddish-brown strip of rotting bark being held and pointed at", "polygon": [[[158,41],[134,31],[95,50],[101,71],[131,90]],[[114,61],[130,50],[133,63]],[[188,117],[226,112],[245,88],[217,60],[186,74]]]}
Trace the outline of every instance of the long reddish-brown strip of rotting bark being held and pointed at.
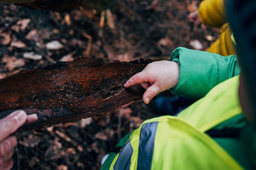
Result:
{"label": "long reddish-brown strip of rotting bark being held and pointed at", "polygon": [[107,115],[141,99],[141,86],[125,89],[124,83],[148,62],[78,57],[20,71],[0,80],[0,118],[18,109],[36,113],[38,120],[20,127],[21,132]]}

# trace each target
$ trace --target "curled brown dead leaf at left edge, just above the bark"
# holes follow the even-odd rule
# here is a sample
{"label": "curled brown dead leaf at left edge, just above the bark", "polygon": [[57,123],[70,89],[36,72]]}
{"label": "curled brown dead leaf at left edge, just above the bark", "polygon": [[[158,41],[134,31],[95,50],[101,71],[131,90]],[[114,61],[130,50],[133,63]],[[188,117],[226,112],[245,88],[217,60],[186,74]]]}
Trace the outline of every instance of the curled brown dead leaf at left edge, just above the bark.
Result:
{"label": "curled brown dead leaf at left edge, just above the bark", "polygon": [[13,71],[16,67],[22,67],[25,65],[24,59],[17,59],[16,57],[8,57],[8,55],[4,55],[2,62],[5,63],[5,67],[9,71]]}

